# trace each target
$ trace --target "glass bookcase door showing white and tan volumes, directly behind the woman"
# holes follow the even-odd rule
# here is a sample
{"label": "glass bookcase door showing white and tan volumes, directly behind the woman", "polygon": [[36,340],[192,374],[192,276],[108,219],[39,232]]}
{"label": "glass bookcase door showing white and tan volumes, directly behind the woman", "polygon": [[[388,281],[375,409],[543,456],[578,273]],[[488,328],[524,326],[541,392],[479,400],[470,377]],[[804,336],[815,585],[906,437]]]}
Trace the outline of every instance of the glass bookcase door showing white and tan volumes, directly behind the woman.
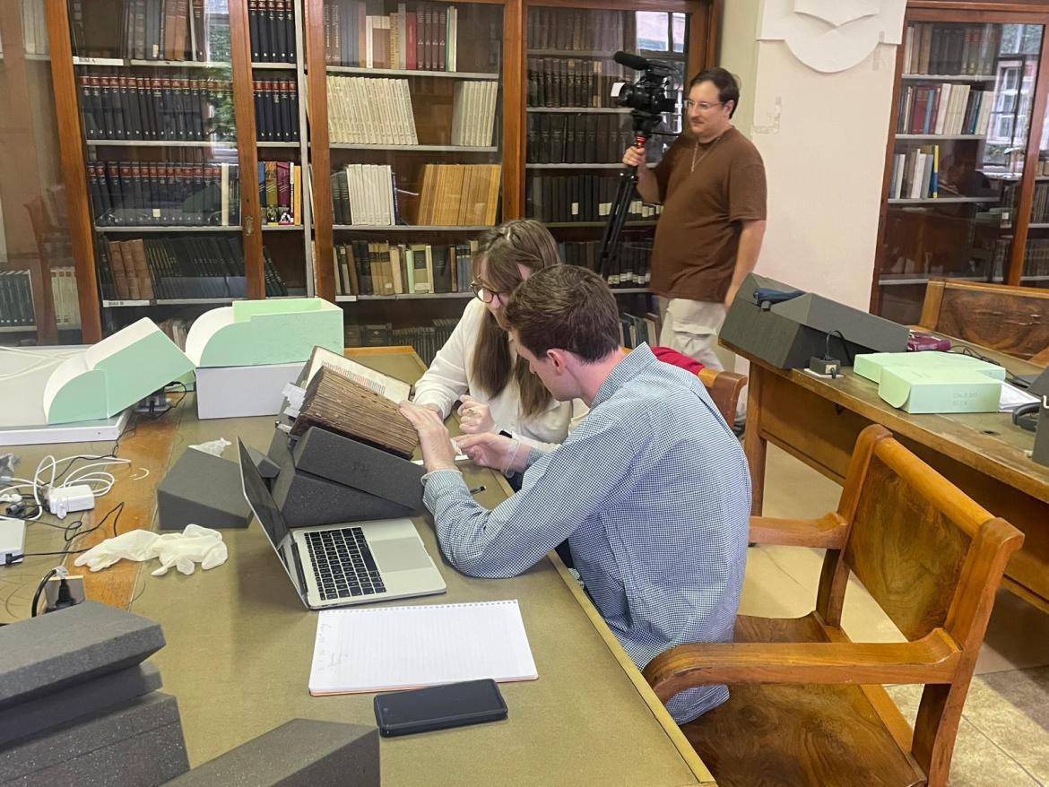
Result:
{"label": "glass bookcase door showing white and tan volumes, directly behind the woman", "polygon": [[472,297],[474,237],[501,219],[504,8],[325,0],[323,20],[346,342],[428,362]]}

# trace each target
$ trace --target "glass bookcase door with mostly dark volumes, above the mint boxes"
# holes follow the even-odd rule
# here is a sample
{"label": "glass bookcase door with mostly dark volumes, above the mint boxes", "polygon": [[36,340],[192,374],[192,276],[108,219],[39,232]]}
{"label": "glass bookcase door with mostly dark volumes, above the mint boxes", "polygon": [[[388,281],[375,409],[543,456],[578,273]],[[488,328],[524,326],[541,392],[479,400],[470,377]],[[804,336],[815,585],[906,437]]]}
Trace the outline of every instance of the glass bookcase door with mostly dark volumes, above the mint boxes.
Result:
{"label": "glass bookcase door with mostly dark volumes, above the mint boxes", "polygon": [[104,333],[245,297],[229,5],[71,0]]}

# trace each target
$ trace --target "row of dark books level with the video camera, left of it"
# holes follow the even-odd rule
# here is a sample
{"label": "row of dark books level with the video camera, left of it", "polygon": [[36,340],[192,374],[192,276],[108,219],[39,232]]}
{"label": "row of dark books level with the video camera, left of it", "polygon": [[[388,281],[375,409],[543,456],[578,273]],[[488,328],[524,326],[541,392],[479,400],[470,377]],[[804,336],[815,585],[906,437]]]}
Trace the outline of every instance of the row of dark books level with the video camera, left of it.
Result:
{"label": "row of dark books level with the video camera, left of it", "polygon": [[634,71],[611,58],[528,59],[528,105],[530,107],[614,107],[612,87],[633,82]]}

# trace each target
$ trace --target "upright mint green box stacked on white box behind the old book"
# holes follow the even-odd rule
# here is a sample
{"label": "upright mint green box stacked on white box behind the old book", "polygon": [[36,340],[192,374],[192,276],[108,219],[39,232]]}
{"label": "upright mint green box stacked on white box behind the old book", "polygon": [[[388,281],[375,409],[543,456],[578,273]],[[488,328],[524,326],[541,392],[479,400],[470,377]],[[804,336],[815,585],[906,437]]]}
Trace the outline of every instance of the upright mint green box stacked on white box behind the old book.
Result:
{"label": "upright mint green box stacked on white box behind the old book", "polygon": [[322,298],[237,301],[196,319],[186,355],[198,367],[304,362],[315,346],[342,355],[342,309]]}

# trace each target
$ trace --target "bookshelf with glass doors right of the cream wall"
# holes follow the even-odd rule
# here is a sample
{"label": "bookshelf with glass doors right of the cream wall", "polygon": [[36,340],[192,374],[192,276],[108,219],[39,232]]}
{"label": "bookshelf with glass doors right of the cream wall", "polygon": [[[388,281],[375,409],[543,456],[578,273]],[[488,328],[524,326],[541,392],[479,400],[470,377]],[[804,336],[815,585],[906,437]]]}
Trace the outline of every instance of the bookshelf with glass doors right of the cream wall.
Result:
{"label": "bookshelf with glass doors right of the cream wall", "polygon": [[898,322],[918,322],[930,278],[1049,275],[1049,5],[986,8],[907,5],[871,294]]}

